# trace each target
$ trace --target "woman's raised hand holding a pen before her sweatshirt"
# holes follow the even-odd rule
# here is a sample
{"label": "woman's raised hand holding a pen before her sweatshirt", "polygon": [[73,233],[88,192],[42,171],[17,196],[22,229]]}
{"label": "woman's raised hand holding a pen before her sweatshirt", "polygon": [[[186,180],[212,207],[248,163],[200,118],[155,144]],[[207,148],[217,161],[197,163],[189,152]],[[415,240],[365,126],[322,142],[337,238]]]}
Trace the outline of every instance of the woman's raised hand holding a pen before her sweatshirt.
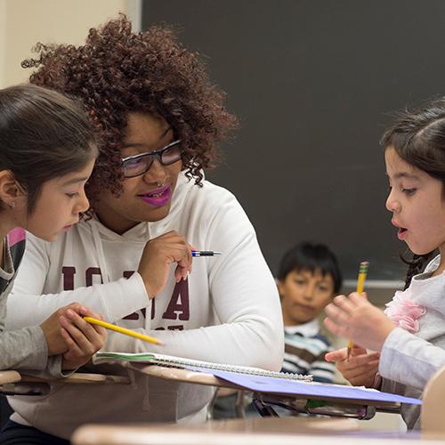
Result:
{"label": "woman's raised hand holding a pen before her sweatshirt", "polygon": [[192,247],[182,235],[169,231],[145,245],[138,272],[141,274],[149,298],[154,298],[166,286],[171,263],[177,263],[176,282],[187,279],[191,271]]}

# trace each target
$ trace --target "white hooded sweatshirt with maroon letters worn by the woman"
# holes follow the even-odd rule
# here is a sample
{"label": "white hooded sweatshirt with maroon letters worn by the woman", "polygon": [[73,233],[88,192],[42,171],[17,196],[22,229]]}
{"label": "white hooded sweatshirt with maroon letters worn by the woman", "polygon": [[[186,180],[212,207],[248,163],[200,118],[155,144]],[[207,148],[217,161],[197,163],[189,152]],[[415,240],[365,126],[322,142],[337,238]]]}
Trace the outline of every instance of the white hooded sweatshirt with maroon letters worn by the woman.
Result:
{"label": "white hooded sweatshirt with maroon letters worn by the woman", "polygon": [[[53,243],[29,236],[6,327],[39,324],[60,306],[77,301],[105,320],[157,336],[165,344],[109,332],[102,351],[160,352],[279,370],[284,350],[279,295],[254,228],[229,191],[203,183],[198,187],[181,174],[170,214],[123,235],[93,218]],[[173,264],[165,289],[150,300],[134,271],[147,241],[167,231],[178,231],[193,247],[223,255],[195,258],[189,279],[178,284]],[[118,365],[86,370],[127,372]],[[211,387],[130,375],[131,385],[53,384],[45,397],[10,397],[12,420],[69,439],[86,422],[206,418]]]}

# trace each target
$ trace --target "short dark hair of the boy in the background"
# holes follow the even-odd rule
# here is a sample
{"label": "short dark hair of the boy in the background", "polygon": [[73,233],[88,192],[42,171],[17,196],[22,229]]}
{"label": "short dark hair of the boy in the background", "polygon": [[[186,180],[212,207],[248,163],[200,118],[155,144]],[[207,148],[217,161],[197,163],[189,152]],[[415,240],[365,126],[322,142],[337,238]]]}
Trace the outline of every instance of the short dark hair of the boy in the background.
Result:
{"label": "short dark hair of the boy in the background", "polygon": [[321,275],[330,275],[334,281],[334,293],[342,287],[342,272],[336,255],[324,244],[303,242],[287,250],[279,263],[277,278],[286,279],[291,271],[320,271]]}

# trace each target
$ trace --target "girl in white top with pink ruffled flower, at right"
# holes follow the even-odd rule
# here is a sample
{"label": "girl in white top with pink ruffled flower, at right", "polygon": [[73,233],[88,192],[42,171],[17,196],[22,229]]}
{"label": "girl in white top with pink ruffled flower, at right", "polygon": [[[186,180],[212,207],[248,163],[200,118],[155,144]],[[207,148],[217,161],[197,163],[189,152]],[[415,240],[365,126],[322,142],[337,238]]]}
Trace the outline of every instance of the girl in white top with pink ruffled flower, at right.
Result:
{"label": "girl in white top with pink ruffled flower, at right", "polygon": [[[396,292],[386,315],[356,294],[328,305],[326,326],[360,347],[350,360],[345,350],[326,359],[352,384],[420,397],[445,364],[445,101],[402,113],[383,144],[391,188],[386,208],[414,258],[405,290]],[[440,255],[425,268],[436,250]],[[420,427],[419,407],[403,406],[401,414],[409,429]]]}

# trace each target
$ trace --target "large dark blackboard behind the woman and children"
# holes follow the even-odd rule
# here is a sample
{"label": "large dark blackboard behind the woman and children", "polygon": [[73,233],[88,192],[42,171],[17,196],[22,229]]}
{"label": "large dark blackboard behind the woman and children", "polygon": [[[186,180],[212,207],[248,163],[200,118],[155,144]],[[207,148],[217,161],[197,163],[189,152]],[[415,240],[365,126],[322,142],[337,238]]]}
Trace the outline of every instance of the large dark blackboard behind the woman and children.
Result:
{"label": "large dark blackboard behind the woman and children", "polygon": [[444,16],[443,0],[143,2],[142,28],[176,26],[240,117],[206,174],[239,198],[271,271],[309,239],[347,287],[363,260],[383,301],[404,278],[379,139],[392,112],[445,93]]}

